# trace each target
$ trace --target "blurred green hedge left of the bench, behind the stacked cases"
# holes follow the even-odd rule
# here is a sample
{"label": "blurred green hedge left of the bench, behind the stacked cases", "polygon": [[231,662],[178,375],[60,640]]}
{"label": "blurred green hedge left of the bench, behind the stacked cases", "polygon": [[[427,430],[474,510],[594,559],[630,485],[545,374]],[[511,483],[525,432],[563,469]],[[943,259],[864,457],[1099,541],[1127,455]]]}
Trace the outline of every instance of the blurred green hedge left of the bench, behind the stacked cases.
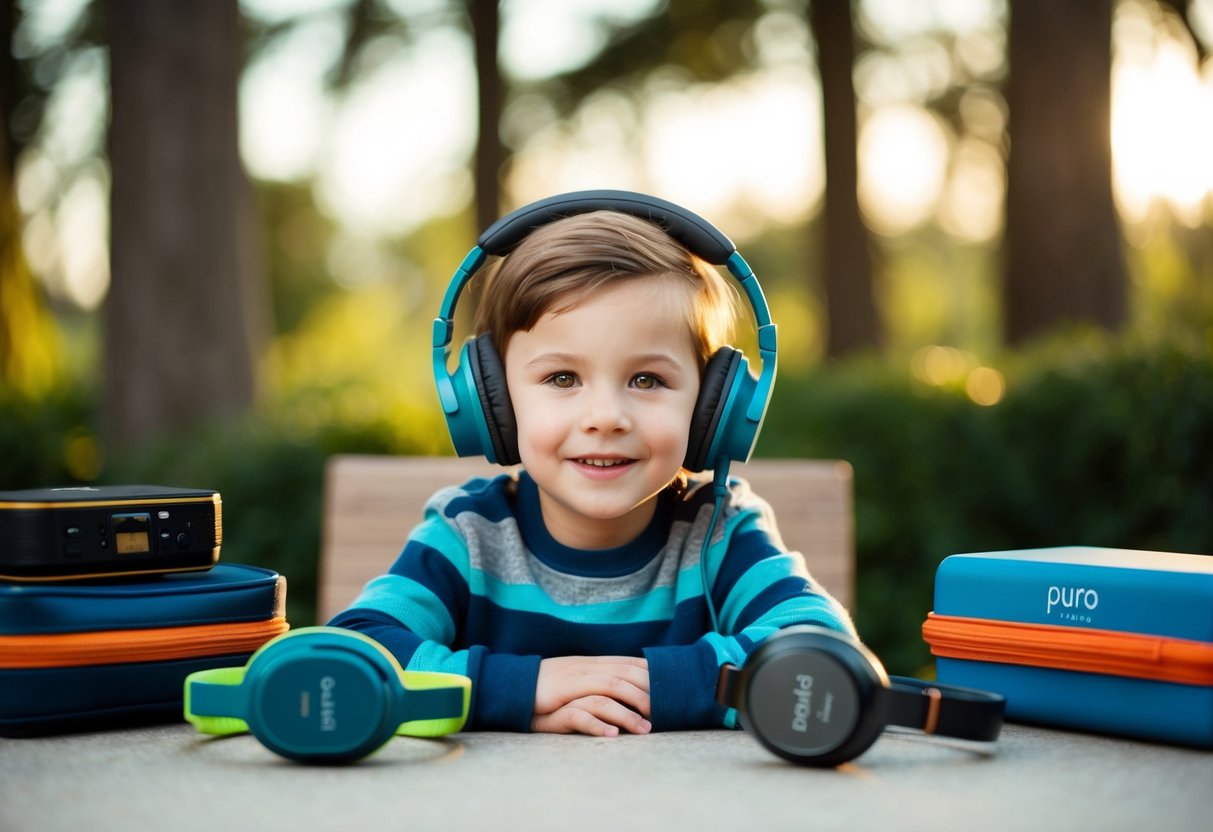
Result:
{"label": "blurred green hedge left of the bench, behind the stacked cases", "polygon": [[35,401],[0,388],[0,489],[82,481],[215,489],[223,498],[222,560],[286,575],[287,619],[295,626],[312,623],[329,456],[433,452],[427,432],[414,434],[408,422],[337,418],[342,409],[324,404],[335,395],[317,392],[306,399],[330,418],[326,423],[264,410],[235,424],[210,424],[135,451],[112,451],[98,477],[89,395],[61,392]]}

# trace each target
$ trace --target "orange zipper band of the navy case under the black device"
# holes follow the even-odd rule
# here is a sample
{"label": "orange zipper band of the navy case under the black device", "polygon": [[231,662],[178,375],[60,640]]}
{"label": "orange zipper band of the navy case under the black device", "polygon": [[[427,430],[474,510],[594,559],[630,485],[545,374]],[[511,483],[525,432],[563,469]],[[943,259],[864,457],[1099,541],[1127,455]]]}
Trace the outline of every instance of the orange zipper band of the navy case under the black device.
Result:
{"label": "orange zipper band of the navy case under the black device", "polygon": [[290,628],[285,617],[87,633],[0,636],[0,668],[82,667],[252,653]]}

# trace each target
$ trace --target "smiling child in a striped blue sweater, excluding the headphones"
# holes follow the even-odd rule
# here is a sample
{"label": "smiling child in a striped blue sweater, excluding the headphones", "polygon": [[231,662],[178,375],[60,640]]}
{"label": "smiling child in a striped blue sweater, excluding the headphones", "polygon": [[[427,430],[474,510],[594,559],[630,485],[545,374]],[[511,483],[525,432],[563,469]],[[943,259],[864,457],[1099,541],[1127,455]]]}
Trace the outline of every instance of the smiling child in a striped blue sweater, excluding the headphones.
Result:
{"label": "smiling child in a striped blue sweater, excluding the headphones", "polygon": [[682,466],[731,287],[616,211],[540,226],[488,270],[474,327],[502,359],[522,469],[438,491],[388,574],[331,623],[410,669],[471,677],[473,730],[735,724],[714,701],[722,663],[788,625],[854,628],[740,480],[705,595],[711,479]]}

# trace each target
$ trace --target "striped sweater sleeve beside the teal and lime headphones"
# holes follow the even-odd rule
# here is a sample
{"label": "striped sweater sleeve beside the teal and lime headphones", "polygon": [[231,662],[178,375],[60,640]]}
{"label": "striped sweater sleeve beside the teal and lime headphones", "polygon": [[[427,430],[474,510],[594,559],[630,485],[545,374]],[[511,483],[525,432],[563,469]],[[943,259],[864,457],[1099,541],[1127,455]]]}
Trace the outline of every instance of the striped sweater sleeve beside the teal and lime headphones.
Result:
{"label": "striped sweater sleeve beside the teal and lime headphones", "polygon": [[468,677],[468,730],[529,731],[540,657],[460,645],[467,564],[462,538],[439,517],[427,517],[392,569],[371,580],[329,623],[374,638],[405,669]]}

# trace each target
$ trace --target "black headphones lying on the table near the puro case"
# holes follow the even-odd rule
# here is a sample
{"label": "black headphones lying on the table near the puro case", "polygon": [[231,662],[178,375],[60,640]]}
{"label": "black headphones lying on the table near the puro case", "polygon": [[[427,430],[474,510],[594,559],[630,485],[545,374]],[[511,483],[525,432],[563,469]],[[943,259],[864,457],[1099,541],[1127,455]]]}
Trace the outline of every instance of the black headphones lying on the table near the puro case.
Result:
{"label": "black headphones lying on the table near the puro case", "polygon": [[993,741],[1007,703],[984,690],[890,678],[862,644],[811,625],[770,636],[740,668],[724,665],[716,701],[736,708],[768,751],[818,767],[859,757],[889,725]]}

